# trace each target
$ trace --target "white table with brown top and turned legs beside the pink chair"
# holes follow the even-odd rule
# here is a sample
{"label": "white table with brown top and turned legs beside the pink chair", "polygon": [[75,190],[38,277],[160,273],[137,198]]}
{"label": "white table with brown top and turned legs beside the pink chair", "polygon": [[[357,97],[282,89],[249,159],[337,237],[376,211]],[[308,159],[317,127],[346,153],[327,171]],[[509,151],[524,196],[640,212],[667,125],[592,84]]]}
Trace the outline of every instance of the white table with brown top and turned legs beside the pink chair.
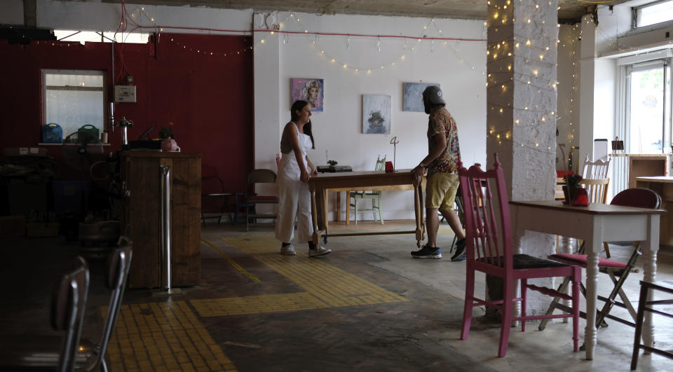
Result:
{"label": "white table with brown top and turned legs beside the pink chair", "polygon": [[[588,207],[564,205],[561,201],[510,202],[512,231],[517,253],[522,253],[520,238],[524,230],[553,235],[577,237],[585,242],[587,253],[587,326],[586,358],[593,359],[597,340],[596,314],[598,254],[603,242],[641,241],[644,255],[644,280],[654,282],[659,250],[659,219],[662,209],[590,204]],[[520,311],[520,308],[518,309]],[[652,314],[646,315],[643,340],[651,346],[654,340]]]}

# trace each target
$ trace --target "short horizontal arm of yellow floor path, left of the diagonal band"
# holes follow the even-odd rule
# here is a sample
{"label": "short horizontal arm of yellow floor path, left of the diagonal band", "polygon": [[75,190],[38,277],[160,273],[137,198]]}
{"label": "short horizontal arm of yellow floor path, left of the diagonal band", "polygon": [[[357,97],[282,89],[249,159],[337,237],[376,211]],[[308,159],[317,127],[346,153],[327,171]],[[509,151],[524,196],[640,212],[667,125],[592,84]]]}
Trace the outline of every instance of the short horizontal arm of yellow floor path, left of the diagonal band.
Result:
{"label": "short horizontal arm of yellow floor path, left of the diagonal band", "polygon": [[329,308],[308,292],[191,300],[190,303],[202,317]]}

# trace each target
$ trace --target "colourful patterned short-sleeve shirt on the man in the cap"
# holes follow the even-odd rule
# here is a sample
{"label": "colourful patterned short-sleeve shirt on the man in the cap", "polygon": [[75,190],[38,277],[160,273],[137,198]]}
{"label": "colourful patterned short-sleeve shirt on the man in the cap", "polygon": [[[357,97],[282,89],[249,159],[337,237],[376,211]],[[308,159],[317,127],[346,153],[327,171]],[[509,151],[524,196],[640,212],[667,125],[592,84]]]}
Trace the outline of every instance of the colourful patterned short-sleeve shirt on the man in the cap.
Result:
{"label": "colourful patterned short-sleeve shirt on the man in the cap", "polygon": [[428,174],[437,172],[455,172],[458,168],[458,160],[461,157],[461,147],[458,144],[458,129],[456,120],[453,116],[440,107],[430,111],[428,119],[428,149],[430,149],[431,139],[438,133],[444,133],[447,136],[447,147],[440,156],[428,165]]}

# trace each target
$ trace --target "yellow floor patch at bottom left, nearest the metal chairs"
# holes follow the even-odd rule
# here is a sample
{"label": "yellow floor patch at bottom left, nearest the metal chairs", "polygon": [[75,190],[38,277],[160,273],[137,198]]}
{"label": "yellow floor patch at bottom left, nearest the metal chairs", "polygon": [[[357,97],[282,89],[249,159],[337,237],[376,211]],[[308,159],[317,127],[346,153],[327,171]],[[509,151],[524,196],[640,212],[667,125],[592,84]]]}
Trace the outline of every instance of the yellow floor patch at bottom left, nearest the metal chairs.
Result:
{"label": "yellow floor patch at bottom left, nearest the metal chairs", "polygon": [[111,371],[236,371],[184,301],[122,305],[108,350]]}

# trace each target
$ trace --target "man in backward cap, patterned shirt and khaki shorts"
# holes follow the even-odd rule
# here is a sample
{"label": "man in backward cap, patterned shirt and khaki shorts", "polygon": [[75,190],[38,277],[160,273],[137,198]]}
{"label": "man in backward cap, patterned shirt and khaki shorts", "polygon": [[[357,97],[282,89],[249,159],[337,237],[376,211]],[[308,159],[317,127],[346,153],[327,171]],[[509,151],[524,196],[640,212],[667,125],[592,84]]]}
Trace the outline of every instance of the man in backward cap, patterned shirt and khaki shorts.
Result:
{"label": "man in backward cap, patterned shirt and khaki shorts", "polygon": [[420,250],[412,252],[416,259],[441,259],[442,252],[437,247],[437,230],[440,227],[437,210],[449,222],[454,230],[458,243],[456,253],[451,261],[465,259],[465,234],[458,215],[454,213],[454,200],[458,191],[458,160],[461,149],[458,146],[458,130],[456,120],[444,108],[446,102],[442,98],[440,87],[430,85],[423,90],[423,106],[430,114],[428,120],[428,156],[421,160],[412,172],[417,176],[428,171],[426,185],[426,230],[428,243]]}

